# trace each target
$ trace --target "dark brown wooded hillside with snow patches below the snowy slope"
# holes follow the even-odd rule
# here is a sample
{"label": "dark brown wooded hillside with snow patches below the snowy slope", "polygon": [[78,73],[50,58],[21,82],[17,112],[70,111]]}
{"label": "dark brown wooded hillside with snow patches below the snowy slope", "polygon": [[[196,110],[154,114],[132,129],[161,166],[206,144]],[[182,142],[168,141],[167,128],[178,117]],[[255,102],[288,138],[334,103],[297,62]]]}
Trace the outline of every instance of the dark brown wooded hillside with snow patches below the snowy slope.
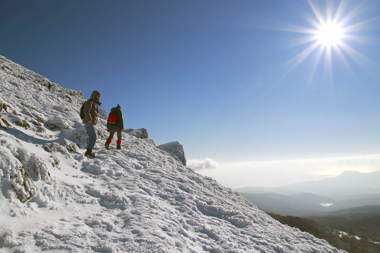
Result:
{"label": "dark brown wooded hillside with snow patches below the snowy slope", "polygon": [[[375,253],[380,252],[380,215],[369,216],[367,218],[359,218],[357,220],[342,219],[342,223],[334,223],[334,226],[326,226],[331,221],[340,219],[340,215],[330,217],[318,217],[318,222],[325,225],[318,224],[317,221],[294,217],[294,216],[281,216],[274,213],[268,213],[272,218],[280,221],[293,228],[308,232],[319,239],[325,239],[330,245],[338,249],[348,251],[349,253]],[[315,218],[315,217],[314,217]],[[323,220],[323,218],[328,218]],[[323,220],[323,222],[321,221]],[[346,232],[349,236],[340,237],[340,231]],[[354,236],[361,238],[356,239]]]}

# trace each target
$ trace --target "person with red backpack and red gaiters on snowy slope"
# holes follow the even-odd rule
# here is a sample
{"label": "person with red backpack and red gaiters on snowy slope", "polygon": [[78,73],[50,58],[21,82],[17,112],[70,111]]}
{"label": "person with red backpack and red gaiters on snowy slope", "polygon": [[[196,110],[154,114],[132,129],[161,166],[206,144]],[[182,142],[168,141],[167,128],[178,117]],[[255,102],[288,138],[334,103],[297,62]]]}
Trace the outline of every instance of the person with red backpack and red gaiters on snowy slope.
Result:
{"label": "person with red backpack and red gaiters on snowy slope", "polygon": [[121,146],[120,146],[121,132],[123,131],[123,129],[124,129],[123,113],[121,112],[120,104],[117,104],[116,107],[111,109],[111,112],[108,115],[107,131],[109,131],[109,136],[106,143],[104,144],[106,149],[108,149],[109,144],[112,141],[112,137],[114,137],[115,131],[117,133],[116,149],[121,149]]}

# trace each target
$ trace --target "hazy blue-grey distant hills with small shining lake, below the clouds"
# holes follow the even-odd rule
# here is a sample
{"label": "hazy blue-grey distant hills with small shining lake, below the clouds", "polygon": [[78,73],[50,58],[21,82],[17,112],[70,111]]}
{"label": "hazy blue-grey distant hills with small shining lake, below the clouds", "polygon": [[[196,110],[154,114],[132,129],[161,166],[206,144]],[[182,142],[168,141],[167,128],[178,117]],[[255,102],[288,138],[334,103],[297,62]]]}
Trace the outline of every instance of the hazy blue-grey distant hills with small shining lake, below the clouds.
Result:
{"label": "hazy blue-grey distant hills with small shining lake, below the clouds", "polygon": [[264,212],[306,217],[340,209],[380,205],[380,188],[376,186],[379,182],[380,171],[345,171],[337,177],[318,181],[234,190]]}

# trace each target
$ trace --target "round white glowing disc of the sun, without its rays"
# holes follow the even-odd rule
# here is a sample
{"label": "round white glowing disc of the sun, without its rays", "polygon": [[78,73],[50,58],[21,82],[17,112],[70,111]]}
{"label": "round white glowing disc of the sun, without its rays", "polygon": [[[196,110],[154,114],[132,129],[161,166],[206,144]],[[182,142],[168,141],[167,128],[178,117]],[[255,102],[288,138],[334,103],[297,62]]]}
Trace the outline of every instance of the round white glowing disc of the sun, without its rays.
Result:
{"label": "round white glowing disc of the sun, without its rays", "polygon": [[340,44],[340,38],[342,38],[342,27],[339,24],[334,23],[323,23],[320,25],[317,31],[318,41],[325,45],[331,46]]}

